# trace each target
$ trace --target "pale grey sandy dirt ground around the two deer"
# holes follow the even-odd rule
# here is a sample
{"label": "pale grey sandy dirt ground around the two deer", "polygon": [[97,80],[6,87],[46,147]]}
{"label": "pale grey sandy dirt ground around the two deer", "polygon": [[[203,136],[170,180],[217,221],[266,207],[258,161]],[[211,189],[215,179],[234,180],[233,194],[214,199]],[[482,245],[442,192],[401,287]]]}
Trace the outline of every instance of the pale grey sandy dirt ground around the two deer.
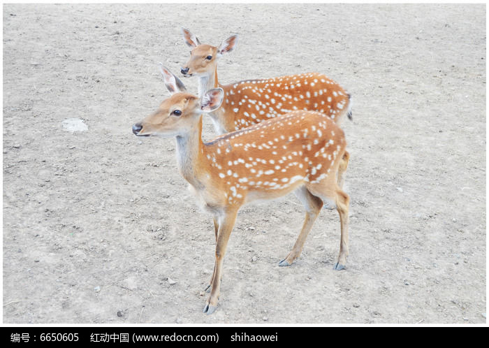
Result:
{"label": "pale grey sandy dirt ground around the two deer", "polygon": [[[345,270],[335,210],[284,268],[302,205],[249,205],[202,313],[212,219],[174,140],[131,133],[169,96],[157,63],[189,57],[182,26],[239,34],[221,83],[318,71],[352,94]],[[4,5],[3,322],[486,323],[486,6]]]}

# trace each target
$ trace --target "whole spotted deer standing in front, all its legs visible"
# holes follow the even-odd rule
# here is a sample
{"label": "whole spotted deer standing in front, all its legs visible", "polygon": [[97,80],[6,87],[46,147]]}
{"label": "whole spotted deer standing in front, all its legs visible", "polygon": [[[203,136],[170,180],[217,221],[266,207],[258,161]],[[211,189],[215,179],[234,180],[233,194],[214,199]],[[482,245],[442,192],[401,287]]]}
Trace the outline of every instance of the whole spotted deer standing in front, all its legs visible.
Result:
{"label": "whole spotted deer standing in front, all its legs visible", "polygon": [[175,138],[180,173],[198,203],[214,219],[214,273],[203,312],[211,314],[217,308],[224,255],[238,210],[256,200],[293,192],[305,206],[302,230],[279,266],[291,265],[300,255],[323,203],[336,208],[341,238],[334,268],[344,268],[349,196],[335,178],[346,147],[342,129],[321,113],[300,110],[203,143],[202,115],[219,108],[224,90],[210,89],[199,98],[187,93],[167,69],[161,71],[172,95],[154,113],[134,124],[133,133]]}

